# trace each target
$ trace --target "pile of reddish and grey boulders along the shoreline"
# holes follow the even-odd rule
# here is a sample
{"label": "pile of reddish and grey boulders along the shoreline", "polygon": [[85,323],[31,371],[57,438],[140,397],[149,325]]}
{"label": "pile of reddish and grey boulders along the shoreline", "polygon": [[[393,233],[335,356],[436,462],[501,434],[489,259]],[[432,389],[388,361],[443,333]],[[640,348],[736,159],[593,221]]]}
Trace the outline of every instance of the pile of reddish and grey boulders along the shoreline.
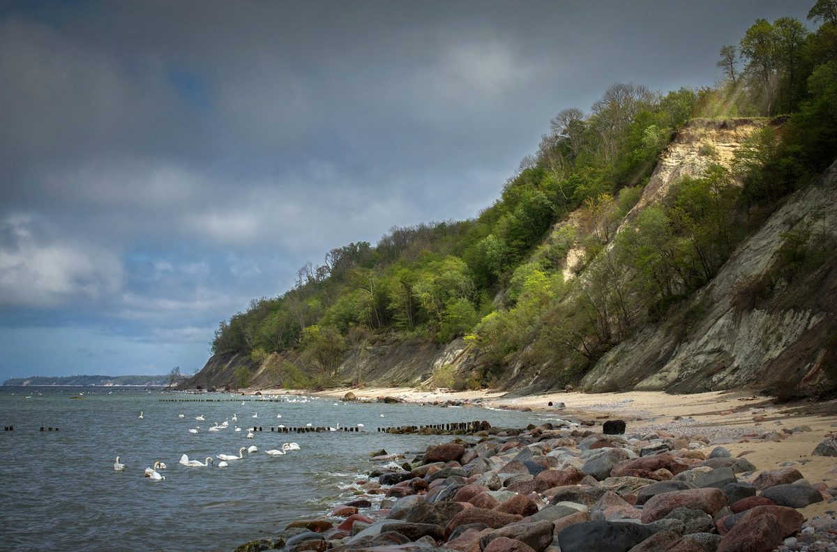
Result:
{"label": "pile of reddish and grey boulders along the shoreline", "polygon": [[390,463],[356,482],[362,496],[236,552],[837,551],[837,521],[804,524],[797,510],[834,501],[837,488],[792,466],[757,473],[703,435],[547,423],[480,437],[428,447],[401,466],[376,452]]}

